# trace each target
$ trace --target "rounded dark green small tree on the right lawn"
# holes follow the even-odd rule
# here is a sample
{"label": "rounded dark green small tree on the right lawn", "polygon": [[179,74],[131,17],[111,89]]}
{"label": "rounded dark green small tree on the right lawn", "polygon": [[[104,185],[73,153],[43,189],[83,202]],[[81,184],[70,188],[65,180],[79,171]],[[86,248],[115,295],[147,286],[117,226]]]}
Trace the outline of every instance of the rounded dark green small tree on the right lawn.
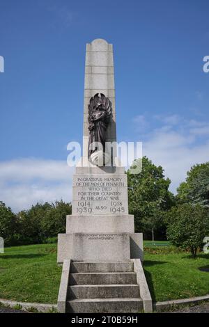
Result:
{"label": "rounded dark green small tree on the right lawn", "polygon": [[184,203],[172,207],[167,212],[166,221],[168,239],[179,248],[189,249],[196,257],[198,248],[201,248],[204,237],[209,233],[208,209]]}

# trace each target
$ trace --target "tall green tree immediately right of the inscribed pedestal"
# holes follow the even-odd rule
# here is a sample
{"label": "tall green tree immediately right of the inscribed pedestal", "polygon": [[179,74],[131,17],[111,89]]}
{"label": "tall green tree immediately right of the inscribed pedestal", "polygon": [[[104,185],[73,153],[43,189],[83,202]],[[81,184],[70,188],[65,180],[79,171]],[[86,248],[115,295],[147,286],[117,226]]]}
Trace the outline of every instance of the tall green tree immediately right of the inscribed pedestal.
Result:
{"label": "tall green tree immediately right of the inscribed pedestal", "polygon": [[[140,160],[134,160],[132,167],[139,166]],[[175,203],[169,191],[171,180],[165,179],[161,166],[155,166],[147,157],[142,159],[141,173],[132,174],[127,170],[129,212],[134,214],[135,228],[144,232],[145,237],[156,231],[165,236],[163,212]]]}

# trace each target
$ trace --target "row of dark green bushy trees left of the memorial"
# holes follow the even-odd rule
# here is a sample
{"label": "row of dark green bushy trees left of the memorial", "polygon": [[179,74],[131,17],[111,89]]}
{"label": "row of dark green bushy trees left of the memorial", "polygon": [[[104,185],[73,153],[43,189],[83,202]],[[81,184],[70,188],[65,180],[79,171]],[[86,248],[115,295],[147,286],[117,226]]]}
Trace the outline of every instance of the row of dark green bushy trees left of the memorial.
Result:
{"label": "row of dark green bushy trees left of the memorial", "polygon": [[62,200],[37,203],[18,214],[13,214],[0,202],[0,237],[3,237],[6,246],[44,243],[65,232],[66,215],[71,212],[70,203]]}

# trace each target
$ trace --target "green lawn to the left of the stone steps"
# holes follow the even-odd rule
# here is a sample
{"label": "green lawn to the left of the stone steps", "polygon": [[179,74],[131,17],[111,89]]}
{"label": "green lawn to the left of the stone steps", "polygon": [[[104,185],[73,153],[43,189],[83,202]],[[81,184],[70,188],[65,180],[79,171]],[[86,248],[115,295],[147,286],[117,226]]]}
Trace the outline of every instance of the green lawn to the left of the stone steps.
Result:
{"label": "green lawn to the left of the stone steps", "polygon": [[0,298],[56,303],[60,279],[56,244],[14,246],[0,255]]}

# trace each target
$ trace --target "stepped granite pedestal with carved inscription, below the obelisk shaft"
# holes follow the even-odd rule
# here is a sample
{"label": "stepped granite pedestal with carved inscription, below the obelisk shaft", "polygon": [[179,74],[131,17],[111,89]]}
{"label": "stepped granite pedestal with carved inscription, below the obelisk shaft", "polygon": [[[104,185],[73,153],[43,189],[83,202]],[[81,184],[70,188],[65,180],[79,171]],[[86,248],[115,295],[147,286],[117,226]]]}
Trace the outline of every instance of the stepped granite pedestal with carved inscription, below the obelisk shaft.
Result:
{"label": "stepped granite pedestal with carved inscription, below the obelisk shaft", "polygon": [[[82,158],[84,163],[84,158]],[[128,214],[127,175],[123,167],[81,167],[73,175],[72,215],[58,236],[59,264],[143,261],[143,235],[134,233]]]}

